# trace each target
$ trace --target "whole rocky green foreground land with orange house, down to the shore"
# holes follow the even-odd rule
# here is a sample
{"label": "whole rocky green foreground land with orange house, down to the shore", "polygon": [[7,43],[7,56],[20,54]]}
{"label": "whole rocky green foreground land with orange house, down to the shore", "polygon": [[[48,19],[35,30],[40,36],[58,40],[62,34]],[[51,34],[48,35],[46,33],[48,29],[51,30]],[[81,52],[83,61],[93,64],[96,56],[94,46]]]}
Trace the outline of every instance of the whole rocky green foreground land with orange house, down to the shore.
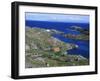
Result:
{"label": "whole rocky green foreground land with orange house, down to the shore", "polygon": [[25,68],[89,64],[87,58],[67,53],[67,50],[78,48],[77,45],[65,43],[52,36],[62,32],[36,27],[26,27],[25,32]]}

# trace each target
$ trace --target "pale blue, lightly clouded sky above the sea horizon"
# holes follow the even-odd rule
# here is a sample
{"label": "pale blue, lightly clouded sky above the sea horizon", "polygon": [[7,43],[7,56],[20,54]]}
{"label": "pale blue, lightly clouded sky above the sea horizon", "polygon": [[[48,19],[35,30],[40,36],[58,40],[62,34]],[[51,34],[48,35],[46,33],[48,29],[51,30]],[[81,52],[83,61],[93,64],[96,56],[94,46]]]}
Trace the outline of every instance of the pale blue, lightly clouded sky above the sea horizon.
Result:
{"label": "pale blue, lightly clouded sky above the sea horizon", "polygon": [[50,21],[50,22],[72,22],[72,23],[89,23],[88,15],[74,14],[55,14],[55,13],[25,13],[26,20],[33,21]]}

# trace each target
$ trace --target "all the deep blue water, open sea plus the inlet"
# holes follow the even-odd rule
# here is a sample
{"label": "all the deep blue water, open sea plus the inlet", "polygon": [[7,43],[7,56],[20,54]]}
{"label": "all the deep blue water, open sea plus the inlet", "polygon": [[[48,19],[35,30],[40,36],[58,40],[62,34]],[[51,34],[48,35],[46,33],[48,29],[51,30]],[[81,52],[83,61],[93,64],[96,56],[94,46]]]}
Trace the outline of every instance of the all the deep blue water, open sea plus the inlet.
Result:
{"label": "all the deep blue water, open sea plus the inlet", "polygon": [[[38,28],[45,28],[45,29],[55,29],[58,31],[62,31],[66,34],[74,34],[78,35],[80,34],[79,31],[73,31],[71,29],[71,26],[79,26],[83,29],[89,30],[89,24],[88,23],[64,23],[64,22],[47,22],[47,21],[27,21],[25,22],[26,26],[29,27],[38,27]],[[54,35],[54,37],[58,38],[61,41],[64,41],[66,43],[73,43],[77,44],[79,48],[69,50],[69,54],[79,54],[86,58],[89,58],[89,41],[86,40],[74,40],[65,38],[59,34]]]}

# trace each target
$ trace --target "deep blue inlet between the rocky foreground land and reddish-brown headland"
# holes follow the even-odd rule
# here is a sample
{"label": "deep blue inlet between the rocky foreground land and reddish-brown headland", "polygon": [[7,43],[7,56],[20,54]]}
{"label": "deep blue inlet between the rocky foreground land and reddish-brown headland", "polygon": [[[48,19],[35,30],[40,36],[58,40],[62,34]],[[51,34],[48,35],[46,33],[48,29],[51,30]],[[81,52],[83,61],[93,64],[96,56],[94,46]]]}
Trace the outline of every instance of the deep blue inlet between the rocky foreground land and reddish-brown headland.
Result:
{"label": "deep blue inlet between the rocky foreground land and reddish-brown headland", "polygon": [[68,50],[67,52],[69,54],[79,54],[79,55],[82,55],[86,58],[89,58],[89,41],[64,38],[61,35],[54,35],[54,37],[60,39],[61,41],[66,42],[66,43],[73,43],[73,44],[78,45],[77,49]]}

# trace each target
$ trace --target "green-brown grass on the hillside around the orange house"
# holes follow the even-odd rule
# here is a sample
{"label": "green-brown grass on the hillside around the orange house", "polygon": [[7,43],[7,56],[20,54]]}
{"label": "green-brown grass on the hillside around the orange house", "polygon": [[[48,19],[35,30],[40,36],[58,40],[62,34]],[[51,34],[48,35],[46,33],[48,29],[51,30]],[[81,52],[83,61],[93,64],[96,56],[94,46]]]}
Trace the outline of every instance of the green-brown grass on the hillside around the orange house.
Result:
{"label": "green-brown grass on the hillside around the orange house", "polygon": [[[66,62],[66,59],[74,59],[78,56],[78,55],[75,56],[75,55],[64,54],[70,48],[72,49],[73,47],[75,47],[75,45],[72,45],[70,43],[65,43],[60,40],[57,41],[56,39],[53,39],[51,34],[43,32],[42,29],[37,29],[37,28],[27,29],[25,37],[26,37],[25,43],[30,47],[30,50],[25,52],[30,54],[28,59],[34,66],[44,67],[47,66],[46,64],[49,64],[50,67],[88,65],[88,60],[84,59],[79,61],[73,60]],[[52,42],[50,43],[50,41]],[[55,45],[53,44],[54,41],[56,42]],[[37,49],[34,49],[35,46],[37,46]],[[59,47],[60,51],[59,52],[53,51],[52,48],[54,47]],[[47,48],[50,49],[46,50]],[[35,55],[40,55],[41,58],[45,58],[44,62],[33,59],[33,57],[38,58],[35,57]]]}

